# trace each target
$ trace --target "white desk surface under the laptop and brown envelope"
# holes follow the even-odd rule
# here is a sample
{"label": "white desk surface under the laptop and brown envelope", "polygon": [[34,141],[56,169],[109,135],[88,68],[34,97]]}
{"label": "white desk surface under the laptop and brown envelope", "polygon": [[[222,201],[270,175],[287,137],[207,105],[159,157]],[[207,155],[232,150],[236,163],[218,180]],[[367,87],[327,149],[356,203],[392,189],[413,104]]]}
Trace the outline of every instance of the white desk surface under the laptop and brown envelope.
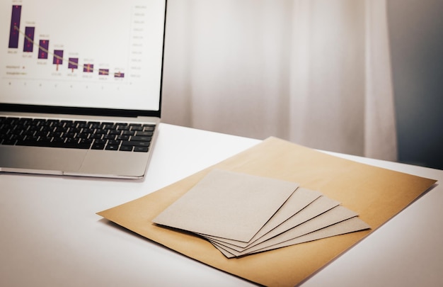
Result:
{"label": "white desk surface under the laptop and brown envelope", "polygon": [[[0,174],[0,286],[253,286],[95,213],[258,142],[162,123],[144,181]],[[336,155],[443,182],[442,170]],[[442,240],[439,185],[302,286],[443,286]]]}

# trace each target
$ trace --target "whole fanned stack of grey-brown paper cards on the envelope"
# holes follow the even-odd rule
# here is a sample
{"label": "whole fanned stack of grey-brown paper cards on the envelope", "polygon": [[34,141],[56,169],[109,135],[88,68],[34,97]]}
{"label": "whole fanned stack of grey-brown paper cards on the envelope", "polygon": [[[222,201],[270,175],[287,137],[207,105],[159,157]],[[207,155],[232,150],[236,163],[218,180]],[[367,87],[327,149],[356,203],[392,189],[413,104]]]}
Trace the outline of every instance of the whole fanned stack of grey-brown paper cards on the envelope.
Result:
{"label": "whole fanned stack of grey-brown paper cards on the envelope", "polygon": [[228,258],[369,228],[357,213],[318,191],[219,169],[153,222],[194,232]]}

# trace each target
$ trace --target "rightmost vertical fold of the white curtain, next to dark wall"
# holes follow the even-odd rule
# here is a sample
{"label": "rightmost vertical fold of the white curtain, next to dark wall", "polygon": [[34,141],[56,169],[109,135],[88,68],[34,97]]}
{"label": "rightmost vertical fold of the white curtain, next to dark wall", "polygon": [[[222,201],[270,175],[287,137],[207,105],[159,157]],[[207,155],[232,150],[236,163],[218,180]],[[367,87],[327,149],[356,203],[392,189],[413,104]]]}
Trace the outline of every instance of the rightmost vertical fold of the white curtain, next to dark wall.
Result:
{"label": "rightmost vertical fold of the white curtain, next to dark wall", "polygon": [[396,161],[396,120],[386,0],[366,1],[364,156]]}

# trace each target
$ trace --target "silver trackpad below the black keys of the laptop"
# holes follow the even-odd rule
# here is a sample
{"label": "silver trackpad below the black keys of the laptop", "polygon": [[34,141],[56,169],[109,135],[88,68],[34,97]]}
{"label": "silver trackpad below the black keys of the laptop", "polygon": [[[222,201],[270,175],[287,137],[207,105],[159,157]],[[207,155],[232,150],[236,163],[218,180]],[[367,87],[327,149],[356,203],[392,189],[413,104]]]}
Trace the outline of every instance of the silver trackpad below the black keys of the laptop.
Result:
{"label": "silver trackpad below the black keys of the laptop", "polygon": [[74,150],[49,147],[0,146],[0,169],[46,174],[62,174],[65,171],[78,171],[87,150]]}

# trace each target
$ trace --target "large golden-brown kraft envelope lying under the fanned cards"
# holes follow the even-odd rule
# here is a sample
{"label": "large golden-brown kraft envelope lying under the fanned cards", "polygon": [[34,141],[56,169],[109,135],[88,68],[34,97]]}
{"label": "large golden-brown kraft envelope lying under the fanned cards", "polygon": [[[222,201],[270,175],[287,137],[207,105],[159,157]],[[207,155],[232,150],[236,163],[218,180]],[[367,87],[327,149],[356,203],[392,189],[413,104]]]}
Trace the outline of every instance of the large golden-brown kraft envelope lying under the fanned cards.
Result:
{"label": "large golden-brown kraft envelope lying under the fanned cards", "polygon": [[[294,181],[359,214],[372,229],[227,259],[201,237],[151,223],[211,169]],[[265,286],[294,286],[362,240],[427,191],[433,179],[341,159],[269,137],[234,157],[98,215],[214,268]],[[257,212],[260,212],[258,210]]]}

